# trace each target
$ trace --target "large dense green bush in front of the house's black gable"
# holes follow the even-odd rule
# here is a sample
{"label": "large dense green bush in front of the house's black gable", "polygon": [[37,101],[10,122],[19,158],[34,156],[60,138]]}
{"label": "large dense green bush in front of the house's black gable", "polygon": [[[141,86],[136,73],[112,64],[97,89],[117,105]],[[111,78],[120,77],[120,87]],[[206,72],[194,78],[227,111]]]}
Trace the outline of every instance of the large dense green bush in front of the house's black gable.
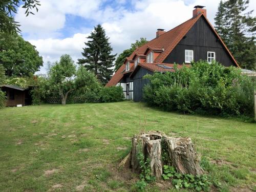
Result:
{"label": "large dense green bush in front of the house's black gable", "polygon": [[146,75],[147,103],[186,113],[253,115],[255,83],[235,67],[198,61],[170,73]]}

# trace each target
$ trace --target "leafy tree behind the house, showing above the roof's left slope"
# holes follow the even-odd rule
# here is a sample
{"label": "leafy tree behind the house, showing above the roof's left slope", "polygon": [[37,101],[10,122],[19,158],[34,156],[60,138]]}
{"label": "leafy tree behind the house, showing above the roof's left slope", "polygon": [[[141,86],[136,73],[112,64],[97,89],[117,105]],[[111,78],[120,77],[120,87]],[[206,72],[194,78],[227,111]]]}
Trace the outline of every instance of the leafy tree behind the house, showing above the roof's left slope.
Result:
{"label": "leafy tree behind the house, showing above the roof's left slope", "polygon": [[134,44],[131,44],[130,49],[126,49],[122,53],[120,53],[115,61],[115,71],[117,71],[123,65],[126,57],[129,57],[137,48],[143,46],[146,43],[146,38],[140,38],[140,40],[136,40]]}

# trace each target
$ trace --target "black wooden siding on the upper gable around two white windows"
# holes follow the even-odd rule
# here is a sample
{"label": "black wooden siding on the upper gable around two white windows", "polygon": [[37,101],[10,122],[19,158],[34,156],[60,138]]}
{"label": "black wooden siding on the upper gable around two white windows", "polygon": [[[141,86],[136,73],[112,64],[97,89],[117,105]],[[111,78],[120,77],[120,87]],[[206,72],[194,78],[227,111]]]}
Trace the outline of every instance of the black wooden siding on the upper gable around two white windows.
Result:
{"label": "black wooden siding on the upper gable around two white windows", "polygon": [[185,38],[165,58],[165,63],[184,63],[185,50],[194,51],[194,60],[207,60],[207,51],[214,51],[216,60],[224,66],[236,66],[230,55],[227,53],[216,34],[201,17],[195,25],[187,32]]}

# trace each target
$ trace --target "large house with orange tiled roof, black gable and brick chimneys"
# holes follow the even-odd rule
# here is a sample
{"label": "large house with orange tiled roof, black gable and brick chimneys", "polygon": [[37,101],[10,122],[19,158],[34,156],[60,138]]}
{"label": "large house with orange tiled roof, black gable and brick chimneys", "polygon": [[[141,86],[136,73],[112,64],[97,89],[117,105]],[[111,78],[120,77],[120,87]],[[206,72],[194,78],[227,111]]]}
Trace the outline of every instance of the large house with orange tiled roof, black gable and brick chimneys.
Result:
{"label": "large house with orange tiled roof, black gable and brick chimneys", "polygon": [[239,67],[214,27],[206,17],[204,6],[195,6],[193,17],[165,32],[158,29],[156,38],[127,57],[106,86],[121,86],[126,99],[142,101],[146,74],[174,71],[194,60],[216,60],[224,66]]}

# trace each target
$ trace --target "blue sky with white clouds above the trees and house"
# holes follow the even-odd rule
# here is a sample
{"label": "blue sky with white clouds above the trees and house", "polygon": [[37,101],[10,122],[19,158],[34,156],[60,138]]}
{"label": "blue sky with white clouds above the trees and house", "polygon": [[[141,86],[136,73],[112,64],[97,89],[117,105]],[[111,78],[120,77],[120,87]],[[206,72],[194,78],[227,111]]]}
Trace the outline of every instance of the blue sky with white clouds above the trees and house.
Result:
{"label": "blue sky with white clouds above the trees and house", "polygon": [[[22,36],[44,59],[55,62],[62,54],[70,54],[76,62],[94,26],[101,24],[110,38],[113,54],[129,49],[140,37],[151,40],[158,28],[166,31],[192,17],[193,7],[203,5],[207,18],[214,25],[219,0],[39,0],[35,15],[25,16],[18,8],[15,20],[20,23]],[[21,7],[21,6],[20,6]],[[248,11],[256,9],[250,1]],[[256,11],[253,12],[256,16]]]}

